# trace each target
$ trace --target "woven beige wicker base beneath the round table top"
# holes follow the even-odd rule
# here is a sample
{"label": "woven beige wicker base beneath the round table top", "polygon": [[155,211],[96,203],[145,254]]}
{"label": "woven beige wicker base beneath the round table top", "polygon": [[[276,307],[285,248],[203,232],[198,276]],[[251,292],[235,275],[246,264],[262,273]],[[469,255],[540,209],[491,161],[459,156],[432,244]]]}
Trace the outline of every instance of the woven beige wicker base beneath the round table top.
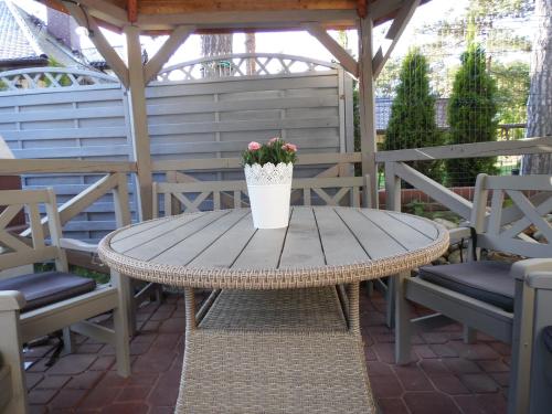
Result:
{"label": "woven beige wicker base beneath the round table top", "polygon": [[336,288],[222,291],[187,332],[177,412],[375,412]]}

